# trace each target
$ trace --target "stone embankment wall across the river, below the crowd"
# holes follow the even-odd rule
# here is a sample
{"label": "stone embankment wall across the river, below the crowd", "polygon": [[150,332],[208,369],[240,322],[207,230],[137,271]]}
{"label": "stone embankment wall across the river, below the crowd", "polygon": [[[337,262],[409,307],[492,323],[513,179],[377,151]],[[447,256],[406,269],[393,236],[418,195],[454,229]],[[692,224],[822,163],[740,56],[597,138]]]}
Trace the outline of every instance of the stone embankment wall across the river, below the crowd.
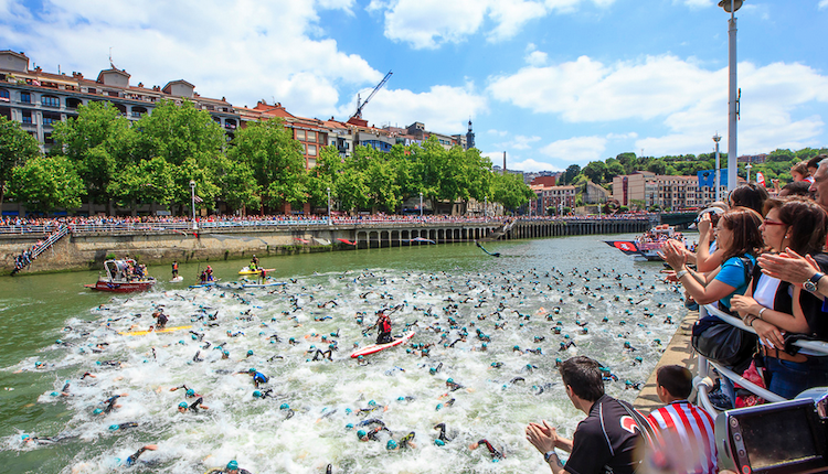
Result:
{"label": "stone embankment wall across the river, below the crowd", "polygon": [[[378,223],[350,226],[296,225],[263,228],[212,228],[74,233],[34,260],[25,272],[99,269],[107,258],[129,256],[145,263],[172,260],[210,261],[257,256],[351,250],[418,245],[414,238],[436,244],[487,239],[538,238],[570,235],[644,231],[643,220],[517,220],[490,223]],[[0,235],[0,273],[14,268],[14,257],[45,235]],[[337,239],[355,241],[355,246]]]}

